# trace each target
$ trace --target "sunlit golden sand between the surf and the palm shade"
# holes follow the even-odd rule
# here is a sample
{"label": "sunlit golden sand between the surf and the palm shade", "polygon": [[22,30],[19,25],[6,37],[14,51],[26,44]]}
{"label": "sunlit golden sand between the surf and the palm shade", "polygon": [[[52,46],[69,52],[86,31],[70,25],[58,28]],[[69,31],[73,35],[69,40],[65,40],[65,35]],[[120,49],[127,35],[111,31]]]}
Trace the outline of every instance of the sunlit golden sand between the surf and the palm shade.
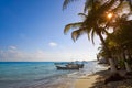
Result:
{"label": "sunlit golden sand between the surf and the palm shade", "polygon": [[[81,76],[75,81],[75,88],[96,88],[98,81],[103,81],[102,75],[108,74],[106,69]],[[98,88],[98,87],[97,87]],[[100,88],[100,87],[99,87]],[[102,88],[102,87],[101,87]]]}

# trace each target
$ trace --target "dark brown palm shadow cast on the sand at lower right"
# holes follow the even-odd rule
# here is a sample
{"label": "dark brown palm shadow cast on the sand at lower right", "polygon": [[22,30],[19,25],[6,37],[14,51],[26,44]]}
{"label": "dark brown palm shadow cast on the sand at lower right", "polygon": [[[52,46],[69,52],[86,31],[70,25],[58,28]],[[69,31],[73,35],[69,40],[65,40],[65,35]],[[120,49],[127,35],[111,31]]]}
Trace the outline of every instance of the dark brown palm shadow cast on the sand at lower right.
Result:
{"label": "dark brown palm shadow cast on the sand at lower right", "polygon": [[94,75],[99,75],[97,81],[92,84],[90,88],[132,88],[132,78],[123,78],[117,81],[109,81],[105,84],[106,78],[110,77],[110,70],[97,72]]}

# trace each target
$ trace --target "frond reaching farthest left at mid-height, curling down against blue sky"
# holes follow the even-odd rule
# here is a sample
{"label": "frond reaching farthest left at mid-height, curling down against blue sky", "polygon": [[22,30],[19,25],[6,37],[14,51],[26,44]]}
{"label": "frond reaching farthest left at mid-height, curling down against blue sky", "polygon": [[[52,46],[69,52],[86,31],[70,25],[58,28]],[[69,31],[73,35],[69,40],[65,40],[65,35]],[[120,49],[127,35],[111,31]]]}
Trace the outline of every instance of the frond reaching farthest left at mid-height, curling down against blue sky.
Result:
{"label": "frond reaching farthest left at mid-height, curling down against blue sky", "polygon": [[65,26],[64,29],[64,34],[66,34],[70,29],[77,29],[80,28],[82,22],[77,22],[77,23],[69,23]]}

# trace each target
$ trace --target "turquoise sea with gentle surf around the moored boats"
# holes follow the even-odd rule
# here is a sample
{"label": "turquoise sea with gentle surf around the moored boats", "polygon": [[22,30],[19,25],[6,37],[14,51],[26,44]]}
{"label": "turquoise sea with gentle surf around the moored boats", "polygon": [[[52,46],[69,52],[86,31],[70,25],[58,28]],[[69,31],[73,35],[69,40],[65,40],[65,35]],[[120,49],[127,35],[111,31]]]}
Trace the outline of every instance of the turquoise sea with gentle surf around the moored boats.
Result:
{"label": "turquoise sea with gentle surf around the moored boats", "polygon": [[87,74],[102,70],[98,62],[86,62],[79,70],[57,70],[56,62],[0,62],[0,88],[74,88]]}

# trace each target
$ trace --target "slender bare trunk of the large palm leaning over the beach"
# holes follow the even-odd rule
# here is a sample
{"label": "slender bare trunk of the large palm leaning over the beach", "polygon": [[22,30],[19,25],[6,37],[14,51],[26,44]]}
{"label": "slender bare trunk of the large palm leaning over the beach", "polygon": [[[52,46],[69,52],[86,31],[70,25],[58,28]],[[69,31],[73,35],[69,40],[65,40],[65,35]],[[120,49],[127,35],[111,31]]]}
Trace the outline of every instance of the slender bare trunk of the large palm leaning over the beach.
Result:
{"label": "slender bare trunk of the large palm leaning over the beach", "polygon": [[111,52],[109,51],[109,48],[108,48],[108,46],[107,46],[107,44],[106,44],[101,33],[98,33],[98,35],[100,37],[101,43],[105,45],[106,52],[108,54],[108,59],[109,59],[109,63],[110,63],[111,73],[117,73],[116,64],[114,64],[114,62],[112,59]]}

